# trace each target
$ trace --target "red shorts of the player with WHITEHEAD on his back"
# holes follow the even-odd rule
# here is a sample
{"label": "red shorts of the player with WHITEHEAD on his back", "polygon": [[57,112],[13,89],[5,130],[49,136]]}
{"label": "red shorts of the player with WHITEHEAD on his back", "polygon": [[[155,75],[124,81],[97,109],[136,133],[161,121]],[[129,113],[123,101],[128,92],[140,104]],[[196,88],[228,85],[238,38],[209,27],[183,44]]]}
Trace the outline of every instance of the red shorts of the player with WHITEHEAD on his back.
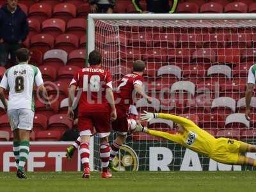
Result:
{"label": "red shorts of the player with WHITEHEAD on his back", "polygon": [[110,112],[86,112],[78,114],[78,129],[80,136],[92,135],[93,127],[100,138],[110,134]]}

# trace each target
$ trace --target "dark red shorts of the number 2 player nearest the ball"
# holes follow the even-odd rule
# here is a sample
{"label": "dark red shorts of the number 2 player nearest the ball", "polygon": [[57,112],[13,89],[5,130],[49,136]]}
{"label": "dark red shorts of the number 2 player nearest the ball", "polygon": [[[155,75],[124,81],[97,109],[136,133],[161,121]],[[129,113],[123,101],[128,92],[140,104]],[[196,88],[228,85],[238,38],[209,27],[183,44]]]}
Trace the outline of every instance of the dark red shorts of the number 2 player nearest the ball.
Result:
{"label": "dark red shorts of the number 2 player nearest the ball", "polygon": [[127,111],[116,106],[117,118],[112,122],[112,129],[119,134],[126,134],[128,131],[128,122],[127,122]]}

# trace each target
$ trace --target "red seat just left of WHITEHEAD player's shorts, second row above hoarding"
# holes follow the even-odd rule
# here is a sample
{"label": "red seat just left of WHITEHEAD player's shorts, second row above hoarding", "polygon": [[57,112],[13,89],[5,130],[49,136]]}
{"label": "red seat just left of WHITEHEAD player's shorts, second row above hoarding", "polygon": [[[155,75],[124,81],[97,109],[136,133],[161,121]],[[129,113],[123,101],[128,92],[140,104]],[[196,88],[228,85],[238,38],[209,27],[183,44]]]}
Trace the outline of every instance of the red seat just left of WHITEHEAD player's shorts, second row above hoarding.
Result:
{"label": "red seat just left of WHITEHEAD player's shorts, second row above hoarding", "polygon": [[72,128],[72,121],[66,114],[56,114],[49,118],[48,129],[51,131],[67,131]]}

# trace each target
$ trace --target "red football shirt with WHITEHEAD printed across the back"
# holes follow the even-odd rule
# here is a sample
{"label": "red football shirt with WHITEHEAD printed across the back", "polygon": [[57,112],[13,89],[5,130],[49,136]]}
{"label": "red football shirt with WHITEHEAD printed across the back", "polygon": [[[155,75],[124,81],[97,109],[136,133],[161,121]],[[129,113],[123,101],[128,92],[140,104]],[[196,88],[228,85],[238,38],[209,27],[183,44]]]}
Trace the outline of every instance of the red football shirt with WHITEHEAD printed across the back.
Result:
{"label": "red football shirt with WHITEHEAD printed across the back", "polygon": [[106,88],[112,88],[111,74],[101,67],[92,66],[78,70],[70,83],[83,90],[78,113],[107,111]]}

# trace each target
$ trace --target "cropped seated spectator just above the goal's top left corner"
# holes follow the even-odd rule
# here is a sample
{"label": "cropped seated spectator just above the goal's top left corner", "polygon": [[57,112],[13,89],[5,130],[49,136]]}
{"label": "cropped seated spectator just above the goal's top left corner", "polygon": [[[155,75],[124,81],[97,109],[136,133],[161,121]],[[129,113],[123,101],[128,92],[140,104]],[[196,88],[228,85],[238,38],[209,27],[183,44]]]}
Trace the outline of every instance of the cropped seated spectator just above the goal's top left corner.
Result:
{"label": "cropped seated spectator just above the goal's top left corner", "polygon": [[113,13],[116,0],[89,0],[92,13]]}

